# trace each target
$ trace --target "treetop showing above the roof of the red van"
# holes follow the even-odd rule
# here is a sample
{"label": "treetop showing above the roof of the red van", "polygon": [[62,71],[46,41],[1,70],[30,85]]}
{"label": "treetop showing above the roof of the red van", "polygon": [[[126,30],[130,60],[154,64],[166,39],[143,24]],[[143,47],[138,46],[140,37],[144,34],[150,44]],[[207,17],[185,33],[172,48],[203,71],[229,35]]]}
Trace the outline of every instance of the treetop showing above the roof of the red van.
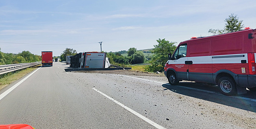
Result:
{"label": "treetop showing above the roof of the red van", "polygon": [[208,32],[213,34],[223,34],[223,33],[242,30],[244,26],[242,24],[243,20],[239,21],[239,17],[237,17],[237,15],[235,15],[234,13],[231,13],[231,15],[229,15],[228,18],[225,19],[225,21],[227,23],[225,24],[225,27],[223,30],[209,29]]}

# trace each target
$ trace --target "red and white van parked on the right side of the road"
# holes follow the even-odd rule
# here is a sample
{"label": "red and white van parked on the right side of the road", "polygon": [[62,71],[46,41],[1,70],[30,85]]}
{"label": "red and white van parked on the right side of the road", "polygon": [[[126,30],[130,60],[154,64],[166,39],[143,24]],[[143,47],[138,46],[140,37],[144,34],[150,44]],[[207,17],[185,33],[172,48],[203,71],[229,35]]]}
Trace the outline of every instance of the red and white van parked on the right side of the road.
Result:
{"label": "red and white van parked on the right side of the road", "polygon": [[181,80],[217,84],[224,95],[256,90],[256,29],[192,37],[169,54],[165,76],[171,85]]}

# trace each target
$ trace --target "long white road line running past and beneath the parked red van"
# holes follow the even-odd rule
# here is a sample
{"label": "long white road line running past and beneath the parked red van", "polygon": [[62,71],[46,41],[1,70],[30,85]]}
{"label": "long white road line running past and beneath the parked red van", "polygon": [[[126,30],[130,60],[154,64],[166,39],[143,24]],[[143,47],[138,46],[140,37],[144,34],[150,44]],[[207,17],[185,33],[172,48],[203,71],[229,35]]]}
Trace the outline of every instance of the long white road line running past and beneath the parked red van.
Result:
{"label": "long white road line running past and beneath the parked red van", "polygon": [[[118,74],[120,75],[120,74]],[[125,76],[125,77],[131,77],[131,76],[126,76],[126,75],[120,75],[120,76]],[[138,78],[138,77],[131,77],[131,78],[135,78],[135,79],[139,79],[139,80],[144,80],[144,81],[149,81],[149,82],[156,82],[159,84],[167,84],[164,82],[157,82],[157,81],[152,81],[152,80],[147,80],[147,79],[142,79],[142,78]],[[167,84],[167,85],[171,85],[171,84]],[[208,90],[201,90],[201,89],[197,89],[197,88],[190,88],[190,87],[186,87],[186,86],[176,86],[176,87],[182,87],[182,88],[187,88],[187,89],[192,89],[192,90],[198,90],[198,91],[202,91],[202,92],[208,92],[208,93],[216,93],[218,95],[222,95],[219,92],[213,92],[213,91],[208,91]],[[226,95],[224,95],[226,96]],[[228,97],[228,96],[227,96]],[[240,96],[229,96],[229,97],[233,97],[233,98],[237,98],[237,99],[244,99],[244,100],[249,100],[249,101],[254,101],[256,102],[256,99],[251,99],[251,98],[246,98],[246,97],[240,97]]]}

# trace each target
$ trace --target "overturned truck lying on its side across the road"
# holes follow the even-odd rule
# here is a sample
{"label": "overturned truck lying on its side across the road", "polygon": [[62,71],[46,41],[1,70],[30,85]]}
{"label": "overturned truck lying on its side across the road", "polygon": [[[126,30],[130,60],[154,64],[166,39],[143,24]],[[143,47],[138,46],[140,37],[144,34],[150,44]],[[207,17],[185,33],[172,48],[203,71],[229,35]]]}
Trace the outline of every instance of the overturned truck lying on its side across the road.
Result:
{"label": "overturned truck lying on its side across the road", "polygon": [[80,52],[71,57],[72,68],[108,68],[110,63],[103,52]]}

